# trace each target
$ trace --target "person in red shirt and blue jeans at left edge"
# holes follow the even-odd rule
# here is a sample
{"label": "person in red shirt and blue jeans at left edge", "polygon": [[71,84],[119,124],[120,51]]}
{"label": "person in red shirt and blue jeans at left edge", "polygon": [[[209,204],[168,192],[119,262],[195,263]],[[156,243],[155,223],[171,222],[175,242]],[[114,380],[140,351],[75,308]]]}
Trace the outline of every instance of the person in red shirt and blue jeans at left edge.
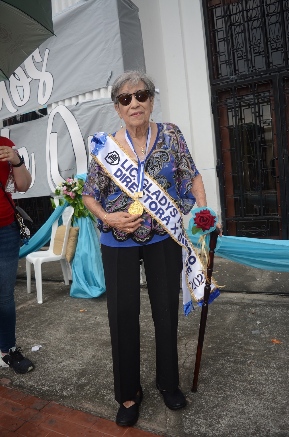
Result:
{"label": "person in red shirt and blue jeans at left edge", "polygon": [[[31,175],[22,158],[12,149],[10,139],[0,136],[0,182],[5,189],[10,166],[18,191],[27,191]],[[9,164],[10,163],[10,164]],[[11,194],[7,194],[12,201]],[[0,187],[0,367],[11,367],[17,373],[34,368],[16,347],[14,286],[20,249],[20,231],[14,221],[14,210]]]}

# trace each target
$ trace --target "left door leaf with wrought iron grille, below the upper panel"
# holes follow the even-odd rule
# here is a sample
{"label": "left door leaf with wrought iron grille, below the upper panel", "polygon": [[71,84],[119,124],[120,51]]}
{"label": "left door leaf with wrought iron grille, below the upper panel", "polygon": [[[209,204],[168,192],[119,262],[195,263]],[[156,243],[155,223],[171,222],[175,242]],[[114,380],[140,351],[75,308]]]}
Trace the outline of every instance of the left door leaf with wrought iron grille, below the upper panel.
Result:
{"label": "left door leaf with wrought iron grille, below the upper panel", "polygon": [[282,238],[272,80],[216,89],[228,235]]}

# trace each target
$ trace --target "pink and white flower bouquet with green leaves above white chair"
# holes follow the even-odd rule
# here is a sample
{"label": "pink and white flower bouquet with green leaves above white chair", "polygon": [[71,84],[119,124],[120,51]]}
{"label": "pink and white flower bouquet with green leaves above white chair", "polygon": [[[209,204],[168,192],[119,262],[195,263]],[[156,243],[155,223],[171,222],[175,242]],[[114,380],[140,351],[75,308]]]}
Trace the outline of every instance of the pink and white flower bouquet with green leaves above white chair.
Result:
{"label": "pink and white flower bouquet with green leaves above white chair", "polygon": [[[68,177],[65,183],[60,182],[55,188],[54,198],[59,199],[59,205],[64,205],[65,200],[74,208],[74,215],[72,215],[72,222],[75,223],[76,218],[90,217],[94,222],[94,215],[83,205],[82,191],[84,180],[77,177]],[[51,205],[56,208],[54,198],[51,198]]]}

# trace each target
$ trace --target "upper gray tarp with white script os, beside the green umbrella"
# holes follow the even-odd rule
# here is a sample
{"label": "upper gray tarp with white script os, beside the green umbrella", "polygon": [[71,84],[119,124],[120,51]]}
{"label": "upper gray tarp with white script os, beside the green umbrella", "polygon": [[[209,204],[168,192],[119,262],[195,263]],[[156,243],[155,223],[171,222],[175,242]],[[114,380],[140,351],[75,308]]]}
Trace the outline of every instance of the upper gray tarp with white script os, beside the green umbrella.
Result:
{"label": "upper gray tarp with white script os, beside the green umbrella", "polygon": [[[82,0],[53,17],[54,33],[0,82],[0,119],[106,87],[145,68],[138,8],[129,0]],[[28,77],[27,77],[28,76]]]}

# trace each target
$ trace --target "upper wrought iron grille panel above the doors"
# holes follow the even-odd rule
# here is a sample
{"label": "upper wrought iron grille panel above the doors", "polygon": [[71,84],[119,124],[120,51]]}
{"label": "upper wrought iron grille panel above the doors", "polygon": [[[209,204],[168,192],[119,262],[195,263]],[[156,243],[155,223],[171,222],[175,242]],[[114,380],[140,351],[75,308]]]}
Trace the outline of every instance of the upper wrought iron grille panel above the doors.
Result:
{"label": "upper wrought iron grille panel above the doors", "polygon": [[289,0],[207,0],[211,83],[288,65]]}

